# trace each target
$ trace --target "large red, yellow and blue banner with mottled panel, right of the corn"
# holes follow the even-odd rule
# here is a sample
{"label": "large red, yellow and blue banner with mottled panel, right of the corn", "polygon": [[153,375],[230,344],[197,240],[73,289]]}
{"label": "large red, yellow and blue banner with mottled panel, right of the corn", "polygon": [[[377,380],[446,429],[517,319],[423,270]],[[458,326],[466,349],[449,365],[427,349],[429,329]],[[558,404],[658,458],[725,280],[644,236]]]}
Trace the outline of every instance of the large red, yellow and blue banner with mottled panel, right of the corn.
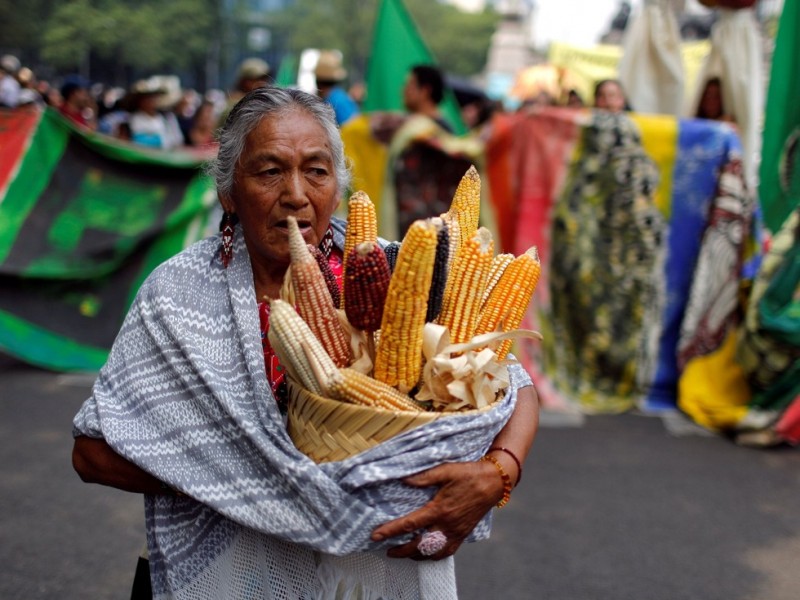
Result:
{"label": "large red, yellow and blue banner with mottled panel, right of the corn", "polygon": [[[701,296],[694,325],[682,331],[692,289],[719,281],[728,299],[726,284],[738,282],[750,249],[752,205],[743,193],[720,191],[723,172],[741,177],[731,168],[741,154],[735,131],[568,109],[498,116],[492,131],[488,172],[501,247],[519,254],[536,245],[543,262],[528,316],[545,341],[517,352],[545,405],[674,408],[681,339],[702,336],[708,354],[735,324],[735,302],[726,302],[714,315],[719,331],[705,335],[714,298]],[[730,246],[704,239],[718,197],[746,216],[734,238],[737,260],[717,254]],[[722,266],[698,283],[703,254]]]}

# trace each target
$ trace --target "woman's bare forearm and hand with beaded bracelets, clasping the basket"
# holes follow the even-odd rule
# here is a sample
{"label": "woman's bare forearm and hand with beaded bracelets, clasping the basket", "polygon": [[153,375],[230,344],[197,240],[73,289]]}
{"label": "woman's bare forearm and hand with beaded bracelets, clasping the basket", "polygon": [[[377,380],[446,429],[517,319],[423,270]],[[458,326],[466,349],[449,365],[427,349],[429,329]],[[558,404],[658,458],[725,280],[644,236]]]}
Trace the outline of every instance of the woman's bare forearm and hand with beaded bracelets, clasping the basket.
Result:
{"label": "woman's bare forearm and hand with beaded bracelets, clasping the basket", "polygon": [[[517,394],[514,412],[491,447],[506,448],[522,464],[539,428],[539,397],[533,386],[520,388]],[[516,485],[521,473],[514,458],[501,450],[490,454]],[[447,536],[447,544],[440,552],[424,557],[417,548],[419,538],[416,538],[389,550],[388,555],[394,558],[437,560],[454,554],[478,522],[503,498],[503,479],[499,469],[489,461],[447,463],[408,477],[405,482],[415,487],[437,486],[439,491],[422,508],[375,529],[372,539],[381,541],[428,529],[441,531]]]}

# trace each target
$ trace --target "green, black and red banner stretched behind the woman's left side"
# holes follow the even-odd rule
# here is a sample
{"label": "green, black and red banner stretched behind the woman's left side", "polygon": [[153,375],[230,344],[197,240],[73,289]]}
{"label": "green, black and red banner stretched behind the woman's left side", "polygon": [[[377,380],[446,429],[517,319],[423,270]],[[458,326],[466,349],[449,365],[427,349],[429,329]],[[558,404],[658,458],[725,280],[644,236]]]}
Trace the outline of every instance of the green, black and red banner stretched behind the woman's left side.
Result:
{"label": "green, black and red banner stretched behind the woman's left side", "polygon": [[139,285],[205,235],[207,154],[0,111],[0,351],[56,370],[103,362]]}

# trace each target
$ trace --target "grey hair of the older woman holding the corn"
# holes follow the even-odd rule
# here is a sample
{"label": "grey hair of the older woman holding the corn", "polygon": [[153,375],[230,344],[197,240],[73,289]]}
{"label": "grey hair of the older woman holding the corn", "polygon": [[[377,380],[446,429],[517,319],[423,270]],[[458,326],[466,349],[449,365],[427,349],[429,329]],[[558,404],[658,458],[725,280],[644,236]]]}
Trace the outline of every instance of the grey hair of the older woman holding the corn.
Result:
{"label": "grey hair of the older woman holding the corn", "polygon": [[225,124],[218,132],[219,150],[206,172],[217,186],[219,196],[230,196],[236,179],[236,167],[244,151],[245,140],[262,119],[293,109],[306,111],[325,130],[333,152],[337,191],[344,194],[351,173],[344,154],[344,142],[336,124],[333,108],[317,96],[291,88],[263,87],[253,90],[233,107]]}

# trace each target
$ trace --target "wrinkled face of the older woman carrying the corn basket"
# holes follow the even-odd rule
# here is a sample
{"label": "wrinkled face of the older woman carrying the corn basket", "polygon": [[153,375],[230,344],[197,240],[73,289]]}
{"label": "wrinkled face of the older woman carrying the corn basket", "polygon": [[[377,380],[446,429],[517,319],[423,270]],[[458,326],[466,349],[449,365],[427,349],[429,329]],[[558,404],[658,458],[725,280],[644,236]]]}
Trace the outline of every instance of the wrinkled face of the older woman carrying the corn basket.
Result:
{"label": "wrinkled face of the older woman carrying the corn basket", "polygon": [[221,202],[238,215],[255,268],[288,264],[289,216],[306,242],[318,245],[339,202],[325,130],[300,109],[262,119],[247,136],[231,195]]}

